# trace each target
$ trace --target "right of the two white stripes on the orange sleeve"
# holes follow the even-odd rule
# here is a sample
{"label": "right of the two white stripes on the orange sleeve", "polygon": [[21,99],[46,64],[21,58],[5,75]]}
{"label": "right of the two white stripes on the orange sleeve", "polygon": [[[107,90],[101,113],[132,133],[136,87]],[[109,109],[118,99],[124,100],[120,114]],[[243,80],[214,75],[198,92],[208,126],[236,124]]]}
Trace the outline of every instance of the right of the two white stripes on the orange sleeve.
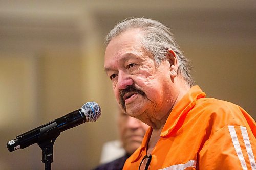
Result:
{"label": "right of the two white stripes on the orange sleeve", "polygon": [[250,160],[250,164],[251,164],[251,169],[256,169],[256,164],[255,164],[255,158],[252,152],[252,148],[251,148],[251,143],[250,143],[250,139],[246,130],[246,127],[240,126],[241,132],[242,132],[242,136],[244,139],[244,144],[245,144],[245,148]]}

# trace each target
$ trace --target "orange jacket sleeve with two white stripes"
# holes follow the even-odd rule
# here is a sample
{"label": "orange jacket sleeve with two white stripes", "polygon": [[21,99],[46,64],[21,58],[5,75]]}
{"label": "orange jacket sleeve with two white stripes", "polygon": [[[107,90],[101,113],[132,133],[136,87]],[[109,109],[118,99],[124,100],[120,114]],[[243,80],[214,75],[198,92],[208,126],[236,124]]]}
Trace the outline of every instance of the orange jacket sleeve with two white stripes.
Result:
{"label": "orange jacket sleeve with two white stripes", "polygon": [[250,127],[226,125],[198,154],[199,169],[256,169],[256,140]]}

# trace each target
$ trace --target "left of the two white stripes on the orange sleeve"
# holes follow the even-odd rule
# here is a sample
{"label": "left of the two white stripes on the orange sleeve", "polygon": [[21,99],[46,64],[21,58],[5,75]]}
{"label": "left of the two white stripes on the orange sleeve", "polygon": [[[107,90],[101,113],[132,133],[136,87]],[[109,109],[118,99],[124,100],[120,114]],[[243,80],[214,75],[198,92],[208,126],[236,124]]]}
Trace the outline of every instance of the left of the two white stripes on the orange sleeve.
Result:
{"label": "left of the two white stripes on the orange sleeve", "polygon": [[243,156],[243,153],[242,153],[239,141],[238,141],[236,130],[234,129],[234,126],[232,126],[232,125],[228,125],[228,129],[229,129],[229,133],[230,133],[231,138],[232,138],[234,149],[236,150],[238,158],[240,160],[241,166],[244,170],[247,170],[246,163],[245,163],[245,160],[244,160],[244,156]]}

